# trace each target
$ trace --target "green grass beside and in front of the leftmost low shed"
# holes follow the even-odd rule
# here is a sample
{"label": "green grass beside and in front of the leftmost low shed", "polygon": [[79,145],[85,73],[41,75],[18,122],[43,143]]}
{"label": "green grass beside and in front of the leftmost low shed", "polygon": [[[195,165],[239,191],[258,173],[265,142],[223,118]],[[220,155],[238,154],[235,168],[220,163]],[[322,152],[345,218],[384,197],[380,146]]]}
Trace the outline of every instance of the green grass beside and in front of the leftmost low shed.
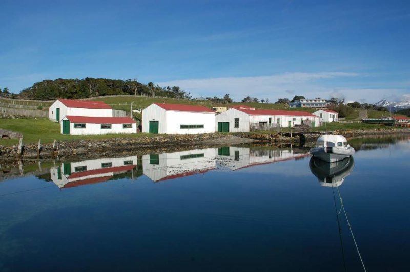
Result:
{"label": "green grass beside and in front of the leftmost low shed", "polygon": [[[137,133],[137,134],[108,134],[108,135],[86,135],[74,136],[60,134],[60,124],[54,123],[48,119],[0,119],[0,128],[20,132],[23,134],[23,143],[38,143],[38,139],[42,143],[52,143],[57,141],[70,141],[79,139],[110,139],[110,138],[135,138],[147,137],[157,134]],[[0,145],[15,145],[18,144],[18,139],[0,140]]]}

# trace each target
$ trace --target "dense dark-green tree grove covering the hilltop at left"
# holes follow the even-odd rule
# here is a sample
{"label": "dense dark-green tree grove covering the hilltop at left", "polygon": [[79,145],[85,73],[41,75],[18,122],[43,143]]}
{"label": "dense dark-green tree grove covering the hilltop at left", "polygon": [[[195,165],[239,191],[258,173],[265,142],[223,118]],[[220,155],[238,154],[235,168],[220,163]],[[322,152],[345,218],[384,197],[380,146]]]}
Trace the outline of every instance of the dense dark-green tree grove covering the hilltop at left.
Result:
{"label": "dense dark-green tree grove covering the hilltop at left", "polygon": [[23,89],[18,98],[55,99],[61,98],[89,98],[106,95],[150,95],[172,98],[190,98],[190,93],[178,86],[162,88],[152,82],[142,84],[136,80],[121,80],[107,78],[85,79],[46,79],[33,86]]}

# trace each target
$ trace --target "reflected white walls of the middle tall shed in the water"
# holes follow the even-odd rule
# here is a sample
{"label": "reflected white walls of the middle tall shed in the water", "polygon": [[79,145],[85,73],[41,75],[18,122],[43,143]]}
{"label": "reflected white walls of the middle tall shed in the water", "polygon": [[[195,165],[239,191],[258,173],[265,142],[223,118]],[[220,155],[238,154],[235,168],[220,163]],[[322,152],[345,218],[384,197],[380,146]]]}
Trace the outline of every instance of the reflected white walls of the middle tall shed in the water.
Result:
{"label": "reflected white walls of the middle tall shed in the water", "polygon": [[[185,158],[183,155],[203,154],[203,157]],[[174,153],[159,154],[159,164],[150,163],[150,155],[142,156],[142,169],[144,175],[156,182],[162,178],[172,177],[191,171],[214,169],[215,148],[195,149]]]}

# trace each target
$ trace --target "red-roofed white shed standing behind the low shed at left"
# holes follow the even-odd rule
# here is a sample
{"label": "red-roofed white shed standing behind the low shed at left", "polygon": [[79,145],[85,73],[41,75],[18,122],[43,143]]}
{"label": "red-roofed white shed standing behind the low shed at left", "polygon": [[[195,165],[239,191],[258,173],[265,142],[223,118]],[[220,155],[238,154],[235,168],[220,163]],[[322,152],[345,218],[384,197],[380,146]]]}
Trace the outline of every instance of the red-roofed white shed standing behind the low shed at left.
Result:
{"label": "red-roofed white shed standing behind the low shed at left", "polygon": [[111,106],[103,101],[83,101],[58,98],[49,109],[49,118],[60,122],[66,116],[99,116],[112,117]]}

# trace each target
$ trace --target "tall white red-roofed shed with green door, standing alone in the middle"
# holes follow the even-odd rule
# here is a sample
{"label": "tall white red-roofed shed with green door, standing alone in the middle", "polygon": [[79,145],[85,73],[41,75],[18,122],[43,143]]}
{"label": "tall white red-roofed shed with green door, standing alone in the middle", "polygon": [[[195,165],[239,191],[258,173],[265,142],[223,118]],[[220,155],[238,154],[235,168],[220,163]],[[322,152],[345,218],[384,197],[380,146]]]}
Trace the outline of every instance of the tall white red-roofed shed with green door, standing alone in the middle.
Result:
{"label": "tall white red-roofed shed with green door, standing alone in the middle", "polygon": [[142,132],[202,134],[215,132],[215,112],[205,106],[153,103],[142,110]]}

